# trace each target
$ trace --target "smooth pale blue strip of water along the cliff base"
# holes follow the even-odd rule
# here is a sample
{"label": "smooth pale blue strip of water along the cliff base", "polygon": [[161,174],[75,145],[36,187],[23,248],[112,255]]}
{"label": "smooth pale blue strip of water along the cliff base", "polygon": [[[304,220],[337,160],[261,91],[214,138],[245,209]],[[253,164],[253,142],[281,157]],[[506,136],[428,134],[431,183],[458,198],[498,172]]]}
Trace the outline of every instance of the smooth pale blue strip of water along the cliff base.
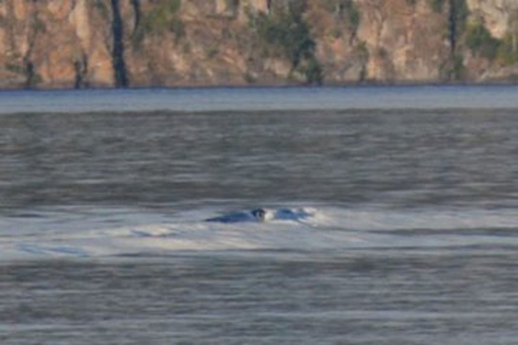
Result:
{"label": "smooth pale blue strip of water along the cliff base", "polygon": [[518,108],[518,86],[143,88],[0,92],[0,114]]}

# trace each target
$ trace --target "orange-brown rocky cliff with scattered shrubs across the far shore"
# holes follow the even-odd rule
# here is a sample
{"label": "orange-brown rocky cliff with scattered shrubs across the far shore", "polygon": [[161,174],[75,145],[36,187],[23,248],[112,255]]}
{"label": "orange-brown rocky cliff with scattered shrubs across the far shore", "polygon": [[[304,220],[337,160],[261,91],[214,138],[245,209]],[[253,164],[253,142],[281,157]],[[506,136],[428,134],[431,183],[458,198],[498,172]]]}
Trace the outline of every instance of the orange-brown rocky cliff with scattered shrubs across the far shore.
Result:
{"label": "orange-brown rocky cliff with scattered shrubs across the far shore", "polygon": [[0,0],[0,87],[513,80],[514,0]]}

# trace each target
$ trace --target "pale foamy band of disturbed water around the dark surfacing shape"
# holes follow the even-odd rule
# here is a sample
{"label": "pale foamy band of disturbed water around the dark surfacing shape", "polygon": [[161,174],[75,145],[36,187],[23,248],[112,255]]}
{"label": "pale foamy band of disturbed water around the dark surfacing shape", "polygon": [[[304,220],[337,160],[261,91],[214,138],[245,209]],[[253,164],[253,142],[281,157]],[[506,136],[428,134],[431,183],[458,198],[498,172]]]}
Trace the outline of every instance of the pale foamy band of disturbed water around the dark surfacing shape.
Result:
{"label": "pale foamy band of disturbed water around the dark surfacing shape", "polygon": [[[344,208],[266,208],[211,217],[210,209],[163,221],[140,214],[136,225],[113,226],[126,213],[77,223],[57,214],[34,217],[47,230],[24,233],[14,219],[0,237],[0,261],[54,258],[154,257],[178,253],[241,251],[333,251],[381,248],[518,246],[512,210],[381,211]],[[138,219],[138,221],[136,221]],[[5,220],[4,220],[5,221]],[[151,221],[151,222],[150,222]],[[126,220],[127,222],[127,220]],[[18,224],[18,231],[16,229]],[[86,224],[86,225],[85,225]],[[90,228],[89,228],[90,227]],[[30,227],[28,227],[30,228]],[[33,229],[37,228],[34,226]]]}

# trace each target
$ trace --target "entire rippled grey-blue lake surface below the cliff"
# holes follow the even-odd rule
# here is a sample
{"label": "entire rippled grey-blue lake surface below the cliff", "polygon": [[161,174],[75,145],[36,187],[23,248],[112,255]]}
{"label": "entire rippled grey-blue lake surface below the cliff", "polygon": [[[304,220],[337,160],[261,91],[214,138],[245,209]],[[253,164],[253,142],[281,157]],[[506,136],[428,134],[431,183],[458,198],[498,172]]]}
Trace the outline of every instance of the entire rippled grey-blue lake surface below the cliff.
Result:
{"label": "entire rippled grey-blue lake surface below the cliff", "polygon": [[514,344],[517,155],[514,86],[2,92],[0,343]]}

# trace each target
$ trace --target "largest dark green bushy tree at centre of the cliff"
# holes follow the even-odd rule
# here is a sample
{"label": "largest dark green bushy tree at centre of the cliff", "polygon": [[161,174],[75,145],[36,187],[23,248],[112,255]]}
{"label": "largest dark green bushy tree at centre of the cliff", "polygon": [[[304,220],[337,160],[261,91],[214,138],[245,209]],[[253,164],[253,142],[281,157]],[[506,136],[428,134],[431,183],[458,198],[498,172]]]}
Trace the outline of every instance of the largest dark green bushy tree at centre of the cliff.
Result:
{"label": "largest dark green bushy tree at centre of the cliff", "polygon": [[290,75],[301,72],[308,83],[322,83],[322,69],[315,56],[310,26],[303,18],[304,8],[290,7],[271,15],[250,14],[250,23],[267,55],[289,59]]}

